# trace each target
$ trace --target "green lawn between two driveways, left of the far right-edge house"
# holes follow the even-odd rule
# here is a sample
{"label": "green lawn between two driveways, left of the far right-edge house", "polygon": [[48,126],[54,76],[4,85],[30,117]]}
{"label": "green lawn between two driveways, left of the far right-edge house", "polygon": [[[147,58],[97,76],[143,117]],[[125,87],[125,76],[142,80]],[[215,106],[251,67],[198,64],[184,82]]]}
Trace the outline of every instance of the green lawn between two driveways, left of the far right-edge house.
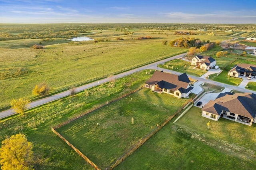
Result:
{"label": "green lawn between two driveways, left of the far right-edge house", "polygon": [[209,79],[234,86],[238,86],[242,82],[241,79],[228,77],[228,71],[225,70],[223,70],[217,77],[216,75],[217,74],[209,75]]}

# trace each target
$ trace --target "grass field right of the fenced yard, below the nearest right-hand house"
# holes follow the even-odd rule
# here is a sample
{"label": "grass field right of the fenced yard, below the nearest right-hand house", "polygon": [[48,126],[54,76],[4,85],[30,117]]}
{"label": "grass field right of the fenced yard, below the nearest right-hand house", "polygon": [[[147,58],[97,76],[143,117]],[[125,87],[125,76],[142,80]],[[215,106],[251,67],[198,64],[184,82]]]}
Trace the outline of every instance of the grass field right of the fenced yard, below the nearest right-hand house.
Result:
{"label": "grass field right of the fenced yard, below the nearest right-hand house", "polygon": [[[206,123],[200,108],[192,107],[175,124],[174,120],[150,138],[117,170],[160,169],[254,169],[256,126],[226,119]],[[128,168],[129,167],[129,168]]]}

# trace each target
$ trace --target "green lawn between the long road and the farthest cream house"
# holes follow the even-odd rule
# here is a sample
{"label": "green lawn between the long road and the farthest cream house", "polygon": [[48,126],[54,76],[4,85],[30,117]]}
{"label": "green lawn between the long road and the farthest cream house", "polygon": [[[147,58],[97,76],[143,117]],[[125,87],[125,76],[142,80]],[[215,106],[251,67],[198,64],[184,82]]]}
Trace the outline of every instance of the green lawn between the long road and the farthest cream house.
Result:
{"label": "green lawn between the long road and the farthest cream house", "polygon": [[184,61],[182,59],[167,61],[164,64],[159,64],[158,67],[195,76],[201,76],[207,72],[205,70],[193,69],[195,66],[191,66],[190,62]]}

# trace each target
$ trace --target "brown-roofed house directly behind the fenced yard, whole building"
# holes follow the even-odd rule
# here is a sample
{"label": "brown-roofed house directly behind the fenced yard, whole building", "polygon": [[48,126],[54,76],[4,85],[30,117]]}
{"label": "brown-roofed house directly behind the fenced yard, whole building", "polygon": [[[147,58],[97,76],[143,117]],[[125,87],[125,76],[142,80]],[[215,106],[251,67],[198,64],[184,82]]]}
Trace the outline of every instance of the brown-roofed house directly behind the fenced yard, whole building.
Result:
{"label": "brown-roofed house directly behind the fenced yard, whole building", "polygon": [[167,93],[175,97],[188,97],[192,93],[193,87],[190,86],[190,80],[186,73],[175,75],[155,71],[152,77],[146,81],[145,87],[158,93]]}

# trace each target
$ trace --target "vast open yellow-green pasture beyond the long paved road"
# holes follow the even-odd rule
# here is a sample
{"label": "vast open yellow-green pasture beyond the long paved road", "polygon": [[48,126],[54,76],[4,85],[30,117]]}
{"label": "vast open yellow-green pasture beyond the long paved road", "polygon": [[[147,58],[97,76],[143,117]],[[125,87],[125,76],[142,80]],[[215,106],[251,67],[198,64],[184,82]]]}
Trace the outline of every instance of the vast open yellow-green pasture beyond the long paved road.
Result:
{"label": "vast open yellow-green pasture beyond the long paved road", "polygon": [[[45,82],[50,93],[64,91],[72,86],[88,83],[108,75],[144,65],[187,49],[163,45],[188,35],[174,35],[168,30],[135,30],[125,35],[120,30],[90,30],[91,38],[98,43],[74,42],[61,38],[0,41],[0,108],[8,107],[13,98],[30,98],[35,85]],[[159,34],[158,34],[159,33]],[[95,37],[94,37],[95,36]],[[153,39],[135,40],[141,36]],[[224,36],[189,35],[201,40],[221,41]],[[123,38],[124,41],[117,41]],[[42,42],[44,49],[33,49]]]}

